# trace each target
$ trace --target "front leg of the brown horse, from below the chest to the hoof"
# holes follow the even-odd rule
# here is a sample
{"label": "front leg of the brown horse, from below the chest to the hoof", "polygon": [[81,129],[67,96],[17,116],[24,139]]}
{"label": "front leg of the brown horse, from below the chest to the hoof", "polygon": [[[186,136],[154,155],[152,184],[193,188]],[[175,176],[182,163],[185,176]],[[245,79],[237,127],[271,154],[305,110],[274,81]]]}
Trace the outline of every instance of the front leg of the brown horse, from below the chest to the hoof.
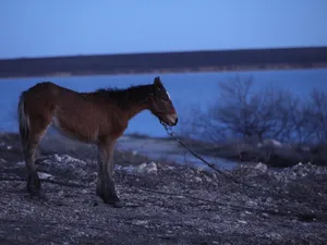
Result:
{"label": "front leg of the brown horse, from below the chest to the hoof", "polygon": [[121,208],[122,201],[119,199],[113,183],[113,148],[114,142],[106,140],[98,144],[99,179],[96,194],[106,204]]}

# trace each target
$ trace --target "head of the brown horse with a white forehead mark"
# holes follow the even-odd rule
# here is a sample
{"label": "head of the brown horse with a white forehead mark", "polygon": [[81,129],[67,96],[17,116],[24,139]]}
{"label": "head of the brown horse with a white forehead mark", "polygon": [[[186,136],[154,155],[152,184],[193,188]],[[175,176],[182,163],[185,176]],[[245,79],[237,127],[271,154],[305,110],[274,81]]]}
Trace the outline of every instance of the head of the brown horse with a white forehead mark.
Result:
{"label": "head of the brown horse with a white forehead mark", "polygon": [[161,123],[169,126],[177,125],[178,114],[159,76],[155,78],[153,84],[153,93],[149,96],[149,110]]}

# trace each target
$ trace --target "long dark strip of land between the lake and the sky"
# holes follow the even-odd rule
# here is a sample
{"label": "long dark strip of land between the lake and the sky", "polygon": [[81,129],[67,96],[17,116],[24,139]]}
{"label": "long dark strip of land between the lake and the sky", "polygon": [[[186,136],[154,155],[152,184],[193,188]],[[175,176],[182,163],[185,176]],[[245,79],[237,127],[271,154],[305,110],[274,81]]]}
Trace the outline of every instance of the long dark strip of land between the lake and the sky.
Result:
{"label": "long dark strip of land between the lake and the sky", "polygon": [[327,47],[3,59],[0,77],[319,68],[327,68]]}

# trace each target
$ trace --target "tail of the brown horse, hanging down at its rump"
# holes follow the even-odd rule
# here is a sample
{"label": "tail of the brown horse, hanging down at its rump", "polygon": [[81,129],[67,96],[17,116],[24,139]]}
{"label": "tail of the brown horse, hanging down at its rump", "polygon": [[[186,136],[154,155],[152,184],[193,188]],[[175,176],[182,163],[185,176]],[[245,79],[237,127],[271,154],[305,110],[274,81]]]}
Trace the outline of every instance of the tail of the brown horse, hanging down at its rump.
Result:
{"label": "tail of the brown horse, hanging down at its rump", "polygon": [[17,114],[19,114],[19,124],[20,124],[20,135],[21,135],[23,149],[24,149],[26,146],[26,143],[29,138],[29,120],[28,120],[28,115],[26,114],[26,111],[25,111],[25,93],[24,91],[20,96]]}

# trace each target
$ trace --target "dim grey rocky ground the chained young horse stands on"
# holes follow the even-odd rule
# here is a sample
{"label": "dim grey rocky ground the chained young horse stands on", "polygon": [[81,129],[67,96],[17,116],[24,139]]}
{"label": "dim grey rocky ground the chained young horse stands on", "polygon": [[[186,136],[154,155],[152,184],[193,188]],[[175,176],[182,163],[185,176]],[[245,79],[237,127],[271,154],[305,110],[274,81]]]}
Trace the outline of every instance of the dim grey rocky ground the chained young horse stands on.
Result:
{"label": "dim grey rocky ground the chained young horse stands on", "polygon": [[233,183],[118,151],[114,180],[126,204],[116,209],[95,195],[95,154],[46,140],[43,201],[25,193],[17,136],[1,135],[0,244],[326,244],[326,167],[249,163],[225,172]]}

